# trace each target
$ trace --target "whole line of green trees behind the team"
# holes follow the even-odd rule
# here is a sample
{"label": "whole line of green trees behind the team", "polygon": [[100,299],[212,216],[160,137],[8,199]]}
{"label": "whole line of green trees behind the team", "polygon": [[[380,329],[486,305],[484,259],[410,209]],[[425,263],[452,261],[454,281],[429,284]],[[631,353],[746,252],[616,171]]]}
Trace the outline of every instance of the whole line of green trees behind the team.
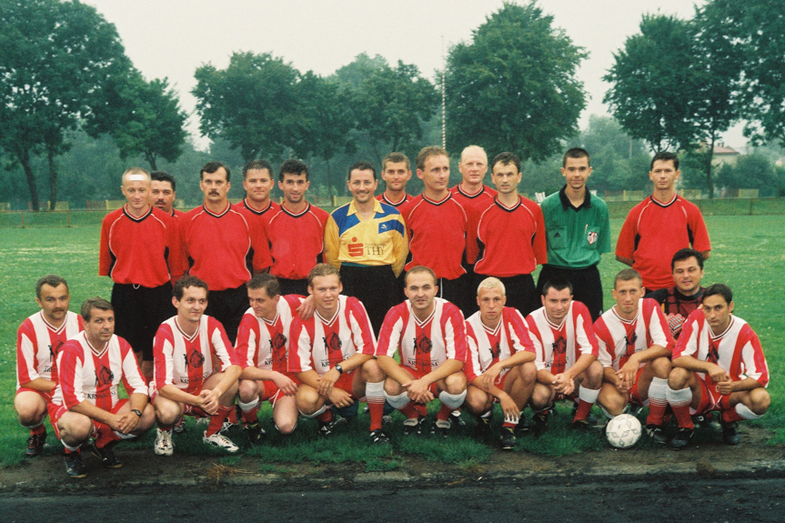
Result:
{"label": "whole line of green trees behind the team", "polygon": [[[785,146],[783,16],[763,0],[712,0],[687,21],[644,16],[605,77],[615,119],[592,116],[582,131],[586,93],[576,73],[587,52],[534,2],[488,15],[449,50],[436,81],[378,55],[357,55],[321,76],[279,56],[236,52],[226,68],[195,71],[196,116],[211,141],[200,151],[167,79],[141,75],[95,8],[0,0],[4,199],[37,210],[42,194],[53,206],[117,198],[119,174],[142,164],[172,172],[182,180],[178,196],[194,203],[207,159],[237,169],[259,157],[273,165],[302,158],[317,196],[345,194],[342,180],[357,158],[380,166],[389,151],[414,157],[441,142],[442,86],[448,150],[516,152],[530,193],[558,189],[559,153],[585,146],[599,190],[645,189],[650,153],[670,148],[687,156],[685,183],[712,195],[717,183],[752,183],[733,175],[739,166],[721,176],[711,168],[713,146],[731,125],[745,120],[751,143]],[[755,171],[769,176],[761,185],[780,186],[781,173],[766,161]],[[239,186],[236,178],[232,196],[241,196]],[[412,192],[418,188],[414,179]]]}

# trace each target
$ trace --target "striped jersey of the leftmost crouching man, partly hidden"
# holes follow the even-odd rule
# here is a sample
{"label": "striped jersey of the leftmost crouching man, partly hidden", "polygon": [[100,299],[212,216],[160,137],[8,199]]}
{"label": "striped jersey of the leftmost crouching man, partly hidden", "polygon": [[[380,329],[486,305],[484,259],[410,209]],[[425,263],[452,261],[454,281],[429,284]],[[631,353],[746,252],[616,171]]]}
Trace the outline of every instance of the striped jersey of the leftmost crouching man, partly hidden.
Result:
{"label": "striped jersey of the leftmost crouching man, partly hidden", "polygon": [[57,354],[82,328],[82,317],[71,311],[58,328],[49,325],[42,311],[25,319],[16,331],[16,388],[37,377],[57,381]]}

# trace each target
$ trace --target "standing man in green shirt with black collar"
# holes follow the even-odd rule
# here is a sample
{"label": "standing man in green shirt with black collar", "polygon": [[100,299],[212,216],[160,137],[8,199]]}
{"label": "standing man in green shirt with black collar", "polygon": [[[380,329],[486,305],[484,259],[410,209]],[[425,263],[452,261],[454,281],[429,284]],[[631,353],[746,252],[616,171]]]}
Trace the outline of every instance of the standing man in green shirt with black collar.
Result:
{"label": "standing man in green shirt with black collar", "polygon": [[538,293],[553,277],[567,279],[575,299],[589,308],[592,320],[602,314],[602,281],[597,268],[601,255],[610,252],[608,206],[591,196],[586,180],[591,175],[589,153],[573,147],[561,160],[565,186],[545,198],[542,214],[548,236],[548,263],[542,266]]}

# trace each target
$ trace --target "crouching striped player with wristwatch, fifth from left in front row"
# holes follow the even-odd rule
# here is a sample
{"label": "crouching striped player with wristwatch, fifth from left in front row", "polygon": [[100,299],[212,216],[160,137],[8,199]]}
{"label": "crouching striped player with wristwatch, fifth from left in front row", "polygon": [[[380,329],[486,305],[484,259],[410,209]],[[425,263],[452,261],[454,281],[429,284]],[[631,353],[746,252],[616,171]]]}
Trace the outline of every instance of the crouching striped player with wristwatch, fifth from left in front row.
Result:
{"label": "crouching striped player with wristwatch, fifth from left in front row", "polygon": [[336,267],[318,264],[308,274],[308,293],[317,307],[307,320],[292,321],[289,371],[302,382],[297,387],[297,408],[318,417],[319,435],[335,427],[332,406],[349,407],[367,397],[370,439],[388,444],[382,431],[385,375],[374,358],[376,338],[365,307],[356,297],[341,294]]}

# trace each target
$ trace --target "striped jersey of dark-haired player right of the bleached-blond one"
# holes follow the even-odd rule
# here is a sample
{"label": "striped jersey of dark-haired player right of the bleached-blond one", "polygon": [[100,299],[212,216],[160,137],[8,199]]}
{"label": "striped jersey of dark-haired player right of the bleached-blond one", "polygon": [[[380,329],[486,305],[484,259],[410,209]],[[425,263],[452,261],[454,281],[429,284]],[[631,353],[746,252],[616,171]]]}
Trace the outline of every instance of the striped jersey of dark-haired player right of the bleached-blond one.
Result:
{"label": "striped jersey of dark-haired player right of the bleached-blond one", "polygon": [[561,374],[575,365],[584,354],[597,356],[597,337],[591,327],[589,309],[579,301],[569,304],[569,312],[560,325],[554,325],[539,307],[526,318],[528,334],[534,344],[538,370]]}

